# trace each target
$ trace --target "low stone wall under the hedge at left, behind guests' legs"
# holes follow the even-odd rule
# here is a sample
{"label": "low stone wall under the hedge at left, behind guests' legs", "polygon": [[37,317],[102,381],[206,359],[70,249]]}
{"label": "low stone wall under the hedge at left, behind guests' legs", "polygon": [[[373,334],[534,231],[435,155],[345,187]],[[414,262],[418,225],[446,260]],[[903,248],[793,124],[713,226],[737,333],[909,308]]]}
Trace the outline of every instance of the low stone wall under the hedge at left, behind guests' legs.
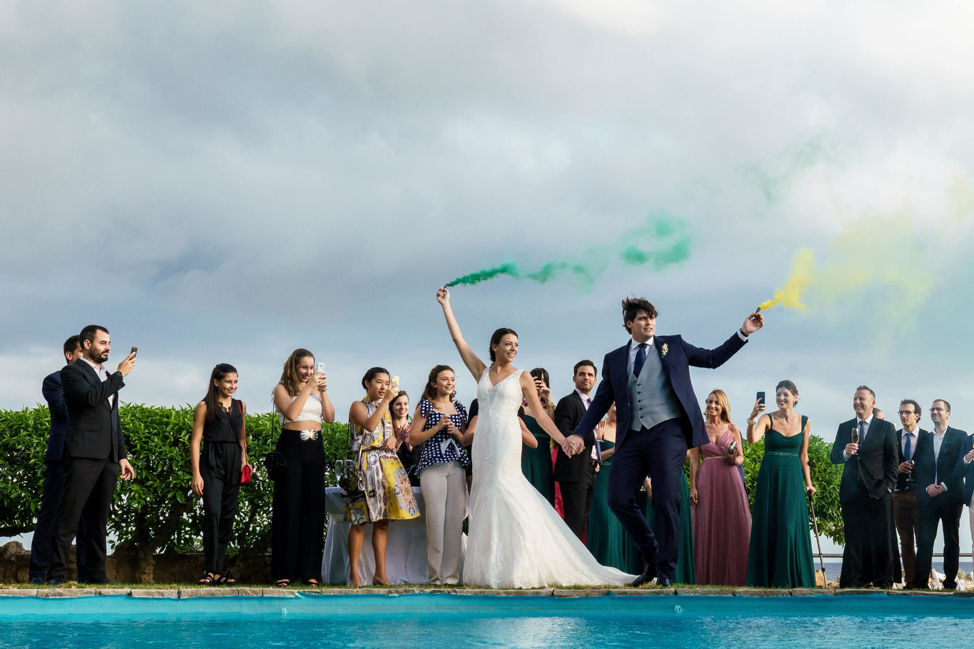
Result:
{"label": "low stone wall under the hedge at left, behind guests' legs", "polygon": [[[237,561],[228,557],[225,567],[227,576],[242,584],[269,584],[271,582],[271,555],[258,556],[256,560]],[[25,550],[19,541],[11,541],[0,548],[0,584],[26,584],[29,578],[30,551]],[[152,580],[154,584],[193,584],[203,575],[203,553],[155,554],[152,561]],[[135,584],[137,556],[134,550],[118,548],[105,558],[105,574],[116,584]],[[71,562],[68,567],[68,581],[78,575],[74,562],[74,547],[71,547]]]}

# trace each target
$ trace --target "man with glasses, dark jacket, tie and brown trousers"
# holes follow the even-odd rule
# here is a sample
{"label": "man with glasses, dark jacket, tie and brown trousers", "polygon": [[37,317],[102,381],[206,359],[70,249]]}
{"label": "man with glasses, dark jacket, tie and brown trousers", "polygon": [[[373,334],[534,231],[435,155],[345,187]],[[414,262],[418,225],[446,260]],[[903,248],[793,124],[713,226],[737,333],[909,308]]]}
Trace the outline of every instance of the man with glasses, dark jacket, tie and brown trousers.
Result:
{"label": "man with glasses, dark jacket, tie and brown trousers", "polygon": [[[910,461],[917,457],[919,440],[926,435],[926,431],[918,426],[922,412],[917,401],[900,401],[899,415],[903,428],[896,431],[900,445],[900,466],[896,475],[896,490],[893,491],[893,520],[900,535],[900,555],[903,557],[904,579],[909,590],[917,585],[916,549],[919,545],[918,483],[913,477],[914,465]],[[873,414],[876,415],[875,408]]]}

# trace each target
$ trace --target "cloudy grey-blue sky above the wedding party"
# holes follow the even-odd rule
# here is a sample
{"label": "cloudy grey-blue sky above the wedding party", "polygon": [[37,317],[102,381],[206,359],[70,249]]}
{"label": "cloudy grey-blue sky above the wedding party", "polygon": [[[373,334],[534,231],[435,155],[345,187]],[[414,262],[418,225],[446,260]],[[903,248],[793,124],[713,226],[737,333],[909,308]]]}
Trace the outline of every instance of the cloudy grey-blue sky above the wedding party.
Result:
{"label": "cloudy grey-blue sky above the wedding party", "polygon": [[[295,347],[339,416],[375,364],[418,393],[520,334],[557,395],[625,342],[619,300],[716,346],[788,277],[702,399],[795,381],[833,438],[868,383],[974,429],[974,9],[967,3],[0,2],[0,406],[41,401],[83,325],[123,399],[198,401],[214,363],[269,407]],[[635,231],[666,223],[659,237]],[[677,238],[689,258],[666,263]],[[649,261],[620,260],[638,240]],[[678,255],[679,256],[679,255]],[[461,375],[460,398],[474,384]],[[929,428],[929,418],[923,420]]]}

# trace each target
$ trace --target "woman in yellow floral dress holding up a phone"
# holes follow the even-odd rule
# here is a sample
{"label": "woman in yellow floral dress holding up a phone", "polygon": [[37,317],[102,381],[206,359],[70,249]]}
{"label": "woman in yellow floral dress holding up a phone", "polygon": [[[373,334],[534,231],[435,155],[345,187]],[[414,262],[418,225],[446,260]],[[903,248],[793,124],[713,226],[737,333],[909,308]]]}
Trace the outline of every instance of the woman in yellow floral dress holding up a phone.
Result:
{"label": "woman in yellow floral dress holding up a phone", "polygon": [[398,385],[390,385],[389,370],[372,367],[362,377],[365,399],[352,404],[349,427],[354,436],[352,450],[361,462],[358,477],[364,493],[345,501],[345,518],[352,522],[349,530],[349,586],[361,586],[358,558],[362,552],[365,523],[372,523],[372,552],[375,554],[374,584],[391,582],[386,576],[386,537],[390,520],[404,520],[420,515],[409,477],[395,454],[397,440],[389,405],[399,394]]}

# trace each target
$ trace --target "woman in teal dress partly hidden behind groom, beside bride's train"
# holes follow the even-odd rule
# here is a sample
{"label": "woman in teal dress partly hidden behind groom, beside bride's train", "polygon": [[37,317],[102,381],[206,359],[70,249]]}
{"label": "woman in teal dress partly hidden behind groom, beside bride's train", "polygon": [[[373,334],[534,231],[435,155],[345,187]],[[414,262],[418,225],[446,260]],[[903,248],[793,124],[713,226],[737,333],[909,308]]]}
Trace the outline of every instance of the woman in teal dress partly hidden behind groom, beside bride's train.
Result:
{"label": "woman in teal dress partly hidden behind groom, beside bride's train", "polygon": [[588,510],[585,547],[602,565],[638,575],[643,571],[643,558],[618,518],[609,510],[607,492],[612,456],[616,452],[616,404],[609,408],[609,419],[595,431],[602,448],[602,464],[595,474],[595,491]]}

